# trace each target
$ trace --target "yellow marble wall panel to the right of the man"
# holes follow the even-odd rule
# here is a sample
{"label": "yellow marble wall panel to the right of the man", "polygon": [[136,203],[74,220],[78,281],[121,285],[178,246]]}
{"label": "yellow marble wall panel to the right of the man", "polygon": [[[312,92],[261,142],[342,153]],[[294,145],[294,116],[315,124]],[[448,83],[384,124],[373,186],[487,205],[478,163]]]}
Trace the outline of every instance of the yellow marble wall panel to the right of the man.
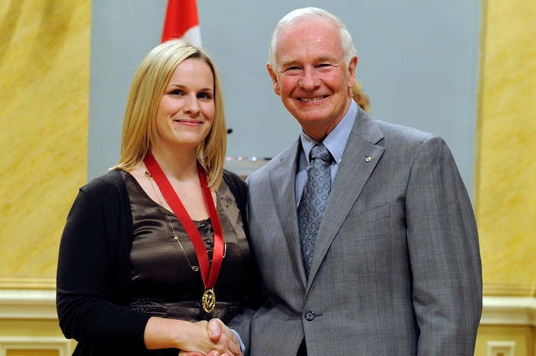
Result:
{"label": "yellow marble wall panel to the right of the man", "polygon": [[536,291],[536,1],[486,0],[475,208],[485,295]]}

